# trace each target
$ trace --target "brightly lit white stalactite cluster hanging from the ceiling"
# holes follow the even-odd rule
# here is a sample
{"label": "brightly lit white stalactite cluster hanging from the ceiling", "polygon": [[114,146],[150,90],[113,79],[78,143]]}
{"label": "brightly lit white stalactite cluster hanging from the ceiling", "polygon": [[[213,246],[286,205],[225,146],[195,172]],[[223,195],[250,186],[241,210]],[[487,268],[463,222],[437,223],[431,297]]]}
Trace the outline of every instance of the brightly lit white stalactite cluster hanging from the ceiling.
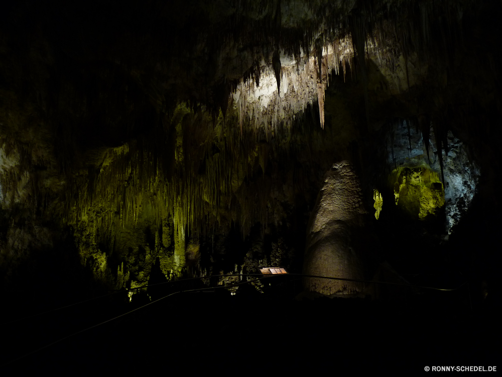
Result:
{"label": "brightly lit white stalactite cluster hanging from the ceiling", "polygon": [[[291,126],[295,114],[316,100],[321,127],[324,127],[324,93],[329,74],[343,72],[352,64],[353,48],[349,37],[323,46],[317,44],[315,54],[305,56],[302,64],[280,66],[277,58],[272,67],[260,72],[260,80],[242,80],[231,95],[239,126],[264,128],[266,134],[277,132],[281,125]],[[279,65],[279,66],[278,66]]]}

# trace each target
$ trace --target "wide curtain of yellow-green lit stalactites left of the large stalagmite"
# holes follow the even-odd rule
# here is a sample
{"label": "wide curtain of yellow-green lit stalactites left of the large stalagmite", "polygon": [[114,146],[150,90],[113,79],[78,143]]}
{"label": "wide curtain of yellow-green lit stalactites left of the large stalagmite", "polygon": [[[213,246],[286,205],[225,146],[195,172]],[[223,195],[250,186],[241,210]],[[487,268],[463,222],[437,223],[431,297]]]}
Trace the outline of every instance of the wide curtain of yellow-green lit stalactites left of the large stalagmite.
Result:
{"label": "wide curtain of yellow-green lit stalactites left of the large stalagmite", "polygon": [[[82,177],[73,190],[69,188],[64,220],[77,227],[90,226],[96,237],[107,234],[105,237],[113,239],[120,229],[136,227],[142,212],[150,208],[158,229],[169,218],[176,234],[197,237],[207,231],[205,226],[215,224],[222,204],[228,204],[235,195],[228,209],[232,220],[241,224],[243,234],[256,219],[264,222],[265,193],[270,190],[264,187],[270,182],[265,178],[249,184],[243,181],[266,151],[249,142],[247,130],[245,137],[239,138],[237,130],[221,130],[221,122],[213,128],[206,114],[186,111],[178,125],[181,132],[170,176],[163,171],[168,161],[138,142],[109,149],[94,176]],[[207,127],[207,138],[197,135]],[[82,190],[85,186],[87,189]],[[257,197],[261,198],[259,206]],[[89,233],[89,229],[82,233]]]}

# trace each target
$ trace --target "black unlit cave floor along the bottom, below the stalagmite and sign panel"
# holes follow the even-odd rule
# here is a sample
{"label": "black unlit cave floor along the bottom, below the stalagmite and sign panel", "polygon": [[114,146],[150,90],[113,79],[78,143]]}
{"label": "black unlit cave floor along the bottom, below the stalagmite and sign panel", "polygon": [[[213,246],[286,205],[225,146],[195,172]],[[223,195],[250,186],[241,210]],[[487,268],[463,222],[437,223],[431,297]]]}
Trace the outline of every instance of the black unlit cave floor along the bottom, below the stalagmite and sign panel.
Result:
{"label": "black unlit cave floor along the bottom, below the stalagmite and sign panel", "polygon": [[[489,303],[471,310],[441,295],[384,303],[223,292],[168,297],[2,368],[53,375],[284,374],[298,368],[415,374],[426,365],[496,365],[499,359],[490,341],[497,338],[497,316]],[[145,303],[104,298],[7,323],[1,363]]]}

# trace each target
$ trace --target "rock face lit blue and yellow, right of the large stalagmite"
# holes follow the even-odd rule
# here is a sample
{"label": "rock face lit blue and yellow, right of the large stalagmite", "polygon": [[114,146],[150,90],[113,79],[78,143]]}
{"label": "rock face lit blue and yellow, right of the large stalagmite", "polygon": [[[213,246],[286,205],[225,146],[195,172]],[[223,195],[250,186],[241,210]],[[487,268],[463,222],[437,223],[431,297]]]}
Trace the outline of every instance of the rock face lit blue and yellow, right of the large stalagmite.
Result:
{"label": "rock face lit blue and yellow, right of the large stalagmite", "polygon": [[[394,168],[390,183],[394,186],[396,205],[420,219],[427,218],[428,214],[434,214],[436,209],[446,205],[445,233],[451,234],[477,191],[479,167],[469,158],[465,145],[448,131],[448,150],[441,151],[445,181],[445,187],[442,187],[436,139],[431,137],[427,143],[413,125],[409,126],[407,121],[394,124],[393,140],[388,148],[389,163],[392,161]],[[434,135],[431,126],[429,135]],[[413,190],[417,191],[417,195],[410,195]]]}

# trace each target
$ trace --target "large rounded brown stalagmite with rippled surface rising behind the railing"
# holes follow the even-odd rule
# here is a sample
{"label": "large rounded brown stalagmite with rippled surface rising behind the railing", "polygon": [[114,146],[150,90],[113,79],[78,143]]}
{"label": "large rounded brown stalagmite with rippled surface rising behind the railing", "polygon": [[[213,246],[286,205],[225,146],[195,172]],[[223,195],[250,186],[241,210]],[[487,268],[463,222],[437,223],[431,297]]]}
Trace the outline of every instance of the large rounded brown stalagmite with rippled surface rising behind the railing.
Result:
{"label": "large rounded brown stalagmite with rippled surface rising behind the railing", "polygon": [[[325,174],[309,220],[304,273],[308,275],[364,279],[362,250],[357,230],[364,223],[359,179],[348,161],[333,164]],[[305,289],[324,295],[361,292],[362,282],[309,277]]]}

